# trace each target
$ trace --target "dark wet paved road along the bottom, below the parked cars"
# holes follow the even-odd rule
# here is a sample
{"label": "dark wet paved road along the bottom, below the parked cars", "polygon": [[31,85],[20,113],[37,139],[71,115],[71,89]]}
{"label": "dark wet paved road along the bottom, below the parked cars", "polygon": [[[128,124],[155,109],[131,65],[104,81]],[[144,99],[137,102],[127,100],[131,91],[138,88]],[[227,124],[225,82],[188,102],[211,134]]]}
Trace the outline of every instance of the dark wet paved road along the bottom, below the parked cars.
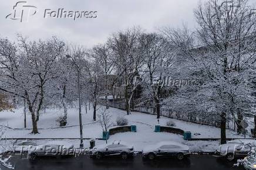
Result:
{"label": "dark wet paved road along the bottom, below the parked cars", "polygon": [[[184,161],[177,159],[156,159],[154,161],[143,161],[140,155],[130,159],[103,158],[90,159],[86,156],[77,158],[41,158],[36,160],[20,159],[18,156],[12,158],[12,164],[18,170],[96,170],[96,169],[196,169],[196,170],[224,170],[243,169],[234,167],[235,162],[228,162],[211,155],[191,155]],[[5,169],[5,168],[3,168]]]}

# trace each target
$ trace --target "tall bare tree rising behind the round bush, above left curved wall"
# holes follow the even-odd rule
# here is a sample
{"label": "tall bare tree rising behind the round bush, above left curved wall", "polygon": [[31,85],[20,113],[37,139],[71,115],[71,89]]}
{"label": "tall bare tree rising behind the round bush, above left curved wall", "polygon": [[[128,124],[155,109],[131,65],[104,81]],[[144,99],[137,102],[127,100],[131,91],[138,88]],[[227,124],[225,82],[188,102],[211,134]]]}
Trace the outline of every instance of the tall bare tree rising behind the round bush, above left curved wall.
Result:
{"label": "tall bare tree rising behind the round bush, above left curved wall", "polygon": [[141,32],[139,28],[133,27],[133,29],[128,29],[125,32],[113,34],[113,37],[108,41],[108,46],[112,48],[115,56],[113,61],[116,72],[122,72],[127,115],[130,115],[129,99],[133,95],[133,90],[131,90],[133,89],[133,81],[143,65],[143,56],[138,50]]}

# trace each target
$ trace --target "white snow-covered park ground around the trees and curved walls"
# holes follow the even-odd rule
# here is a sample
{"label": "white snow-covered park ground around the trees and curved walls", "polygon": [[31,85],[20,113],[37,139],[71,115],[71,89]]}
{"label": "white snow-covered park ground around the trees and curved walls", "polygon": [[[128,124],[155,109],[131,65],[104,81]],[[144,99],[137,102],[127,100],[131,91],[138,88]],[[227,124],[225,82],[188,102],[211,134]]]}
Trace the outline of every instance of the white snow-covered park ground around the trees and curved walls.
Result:
{"label": "white snow-covered park ground around the trees and curved walls", "polygon": [[[92,109],[82,109],[83,120],[83,137],[84,138],[102,138],[102,129],[99,122],[92,122]],[[184,141],[183,136],[171,133],[155,133],[154,125],[158,124],[156,116],[147,115],[145,113],[132,112],[132,115],[126,115],[124,110],[110,108],[109,112],[112,115],[112,122],[116,122],[117,116],[124,116],[129,120],[130,125],[137,126],[137,132],[117,133],[110,136],[109,141],[122,140],[134,145],[136,150],[142,150],[147,144],[155,144],[160,141],[178,141],[190,145],[193,151],[214,151],[218,146],[218,141]],[[0,112],[0,124],[11,127],[6,129],[6,138],[79,138],[79,119],[78,109],[72,108],[68,110],[68,124],[67,127],[57,128],[58,123],[56,119],[62,115],[61,109],[46,109],[46,112],[41,113],[38,128],[40,134],[30,134],[32,123],[31,115],[27,115],[27,129],[23,129],[23,109],[17,109],[15,112]],[[160,125],[166,126],[166,122],[170,118],[161,117]],[[204,126],[200,124],[184,122],[181,120],[171,119],[176,127],[184,131],[191,131],[193,138],[220,138],[220,129],[211,126]],[[200,135],[195,135],[200,134]],[[243,138],[235,131],[227,130],[228,138]],[[74,142],[79,144],[79,140]],[[96,144],[102,144],[105,141],[97,140]],[[89,141],[85,141],[89,145]]]}

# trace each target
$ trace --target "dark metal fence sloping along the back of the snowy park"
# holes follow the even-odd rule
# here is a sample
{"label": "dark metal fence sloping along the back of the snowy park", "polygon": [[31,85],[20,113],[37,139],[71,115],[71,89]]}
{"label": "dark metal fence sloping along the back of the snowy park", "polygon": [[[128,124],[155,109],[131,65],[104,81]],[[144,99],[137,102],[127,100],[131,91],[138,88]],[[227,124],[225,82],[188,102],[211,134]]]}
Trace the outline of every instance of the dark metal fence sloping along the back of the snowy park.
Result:
{"label": "dark metal fence sloping along the back of the snowy park", "polygon": [[[109,102],[109,106],[118,109],[126,110],[124,103]],[[150,115],[157,115],[156,108],[150,106],[136,106],[131,108],[133,112],[142,112]],[[205,114],[191,114],[191,113],[177,113],[171,109],[160,108],[160,116],[169,117],[171,119],[184,120],[186,122],[192,122],[197,124],[203,124],[208,126],[220,127],[220,117],[217,115],[205,115]],[[227,129],[236,130],[234,120],[227,120]]]}

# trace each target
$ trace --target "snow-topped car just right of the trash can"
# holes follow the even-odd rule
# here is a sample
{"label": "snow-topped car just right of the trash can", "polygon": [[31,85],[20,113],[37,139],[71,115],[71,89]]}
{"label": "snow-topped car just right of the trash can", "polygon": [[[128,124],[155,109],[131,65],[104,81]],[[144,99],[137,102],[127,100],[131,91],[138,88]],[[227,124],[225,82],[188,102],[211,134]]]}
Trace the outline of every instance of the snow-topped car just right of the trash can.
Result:
{"label": "snow-topped car just right of the trash can", "polygon": [[122,141],[114,141],[110,144],[97,145],[93,147],[91,157],[102,158],[105,156],[120,155],[123,159],[133,156],[133,145]]}

